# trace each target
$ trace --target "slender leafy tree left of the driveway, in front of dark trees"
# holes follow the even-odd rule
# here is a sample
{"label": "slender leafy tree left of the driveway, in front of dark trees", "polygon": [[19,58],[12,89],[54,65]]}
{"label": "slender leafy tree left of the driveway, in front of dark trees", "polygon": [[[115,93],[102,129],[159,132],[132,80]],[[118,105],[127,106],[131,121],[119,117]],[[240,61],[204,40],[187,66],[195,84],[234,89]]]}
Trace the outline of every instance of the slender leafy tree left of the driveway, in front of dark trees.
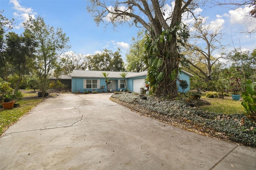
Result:
{"label": "slender leafy tree left of the driveway, in front of dark trees", "polygon": [[63,33],[61,28],[53,28],[45,24],[44,19],[39,17],[34,19],[31,16],[24,23],[25,32],[34,38],[38,43],[34,51],[34,70],[38,76],[38,88],[42,92],[42,97],[46,94],[49,86],[49,75],[58,65],[57,59],[69,49],[69,38]]}

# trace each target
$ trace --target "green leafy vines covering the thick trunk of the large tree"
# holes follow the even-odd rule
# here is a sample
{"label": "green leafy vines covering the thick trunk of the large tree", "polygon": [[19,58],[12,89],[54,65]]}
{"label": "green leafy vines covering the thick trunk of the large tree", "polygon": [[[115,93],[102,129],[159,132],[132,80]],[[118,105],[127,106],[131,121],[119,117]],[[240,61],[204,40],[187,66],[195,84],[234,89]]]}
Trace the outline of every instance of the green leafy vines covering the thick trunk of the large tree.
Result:
{"label": "green leafy vines covering the thick trunk of the large tree", "polygon": [[157,97],[175,97],[177,95],[177,77],[179,72],[179,45],[184,45],[189,31],[184,24],[164,30],[158,37],[148,36],[146,46],[146,63],[149,67],[147,81],[152,93]]}

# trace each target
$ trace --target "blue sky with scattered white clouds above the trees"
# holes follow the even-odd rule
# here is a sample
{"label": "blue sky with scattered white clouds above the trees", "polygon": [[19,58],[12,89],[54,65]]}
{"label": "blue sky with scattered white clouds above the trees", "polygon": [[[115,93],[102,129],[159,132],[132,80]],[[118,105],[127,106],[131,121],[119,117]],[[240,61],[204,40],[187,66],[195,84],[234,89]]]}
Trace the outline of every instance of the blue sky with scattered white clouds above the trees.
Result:
{"label": "blue sky with scattered white clouds above the trees", "polygon": [[[22,22],[30,15],[41,16],[47,25],[54,28],[61,27],[63,32],[70,38],[70,51],[76,54],[95,54],[104,48],[117,51],[119,47],[122,57],[125,59],[126,50],[129,48],[132,37],[136,37],[139,28],[128,25],[118,26],[114,31],[110,26],[106,29],[104,24],[99,27],[87,12],[86,0],[0,0],[0,10],[8,19],[14,18],[16,21],[12,31],[22,34]],[[224,34],[222,43],[229,45],[232,50],[241,46],[243,50],[256,48],[256,34],[240,33],[241,30],[255,28],[256,20],[251,20],[241,16],[248,12],[248,9],[233,10],[232,8],[208,6],[198,9],[198,15],[207,18],[212,24],[223,24],[222,33]],[[192,22],[192,21],[188,21]],[[228,46],[227,46],[228,47]],[[215,51],[214,55],[218,55]]]}

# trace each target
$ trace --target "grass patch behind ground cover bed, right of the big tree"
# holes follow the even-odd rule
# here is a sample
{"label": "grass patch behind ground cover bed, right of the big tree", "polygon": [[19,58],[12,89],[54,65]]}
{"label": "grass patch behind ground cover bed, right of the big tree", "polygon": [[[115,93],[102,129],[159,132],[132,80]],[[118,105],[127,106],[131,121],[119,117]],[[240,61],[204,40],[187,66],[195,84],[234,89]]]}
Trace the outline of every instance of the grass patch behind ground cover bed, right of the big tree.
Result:
{"label": "grass patch behind ground cover bed, right of the big tree", "polygon": [[200,106],[199,108],[203,111],[222,113],[225,115],[244,113],[245,109],[241,105],[241,101],[234,101],[232,99],[218,99],[218,98],[207,98],[202,96],[201,99],[211,103],[211,105]]}

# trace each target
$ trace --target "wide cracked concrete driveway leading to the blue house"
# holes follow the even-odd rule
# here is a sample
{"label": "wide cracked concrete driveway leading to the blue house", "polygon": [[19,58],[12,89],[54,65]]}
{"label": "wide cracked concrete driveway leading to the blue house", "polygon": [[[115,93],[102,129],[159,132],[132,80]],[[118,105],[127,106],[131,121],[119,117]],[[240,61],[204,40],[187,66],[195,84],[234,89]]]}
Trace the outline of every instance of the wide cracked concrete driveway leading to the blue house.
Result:
{"label": "wide cracked concrete driveway leading to the blue house", "polygon": [[44,100],[0,138],[0,169],[256,169],[256,149],[140,116],[110,95]]}

